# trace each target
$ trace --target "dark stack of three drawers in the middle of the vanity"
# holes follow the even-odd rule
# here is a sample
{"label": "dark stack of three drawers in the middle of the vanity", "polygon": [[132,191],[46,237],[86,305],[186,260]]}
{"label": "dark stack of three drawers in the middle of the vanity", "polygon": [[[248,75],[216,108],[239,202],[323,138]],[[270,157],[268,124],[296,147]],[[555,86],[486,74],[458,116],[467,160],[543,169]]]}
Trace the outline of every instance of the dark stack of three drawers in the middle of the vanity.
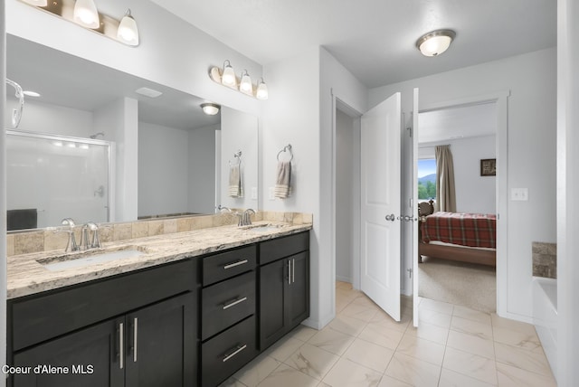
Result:
{"label": "dark stack of three drawers in the middle of the vanity", "polygon": [[203,259],[201,385],[223,382],[255,357],[257,247]]}

